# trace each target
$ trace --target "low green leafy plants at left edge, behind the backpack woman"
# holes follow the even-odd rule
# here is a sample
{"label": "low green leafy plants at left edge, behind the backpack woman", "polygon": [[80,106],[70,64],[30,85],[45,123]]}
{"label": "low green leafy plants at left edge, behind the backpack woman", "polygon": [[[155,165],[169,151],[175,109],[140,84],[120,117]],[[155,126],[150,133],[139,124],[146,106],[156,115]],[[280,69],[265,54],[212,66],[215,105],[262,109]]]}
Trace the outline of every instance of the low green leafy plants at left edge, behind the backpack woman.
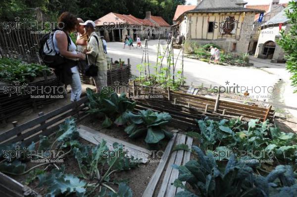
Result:
{"label": "low green leafy plants at left edge, behind the backpack woman", "polygon": [[43,76],[43,70],[50,74],[49,68],[44,65],[28,64],[12,58],[0,58],[0,81],[29,83],[36,77]]}

